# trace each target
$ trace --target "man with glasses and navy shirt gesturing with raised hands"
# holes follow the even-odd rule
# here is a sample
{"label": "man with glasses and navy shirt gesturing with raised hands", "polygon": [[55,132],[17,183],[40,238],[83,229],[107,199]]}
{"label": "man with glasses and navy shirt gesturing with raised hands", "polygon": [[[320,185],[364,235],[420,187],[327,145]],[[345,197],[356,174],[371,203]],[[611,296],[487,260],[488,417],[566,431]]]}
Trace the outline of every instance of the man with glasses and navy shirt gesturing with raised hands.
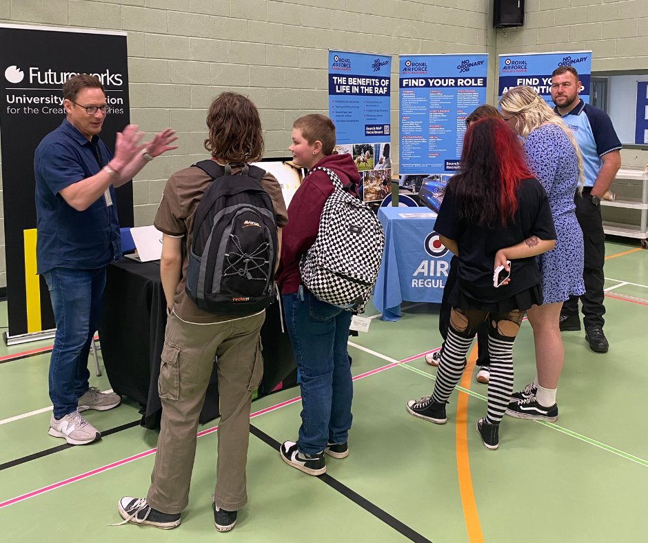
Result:
{"label": "man with glasses and navy shirt gesturing with raised hands", "polygon": [[114,188],[148,161],[176,147],[170,128],[149,143],[128,125],[114,156],[99,139],[108,113],[97,77],[79,74],[63,85],[65,119],[34,154],[37,271],[50,290],[57,334],[50,358],[50,436],[81,445],[101,437],[79,409],[105,411],[121,398],[89,387],[88,354],[101,314],[105,268],[121,257]]}

